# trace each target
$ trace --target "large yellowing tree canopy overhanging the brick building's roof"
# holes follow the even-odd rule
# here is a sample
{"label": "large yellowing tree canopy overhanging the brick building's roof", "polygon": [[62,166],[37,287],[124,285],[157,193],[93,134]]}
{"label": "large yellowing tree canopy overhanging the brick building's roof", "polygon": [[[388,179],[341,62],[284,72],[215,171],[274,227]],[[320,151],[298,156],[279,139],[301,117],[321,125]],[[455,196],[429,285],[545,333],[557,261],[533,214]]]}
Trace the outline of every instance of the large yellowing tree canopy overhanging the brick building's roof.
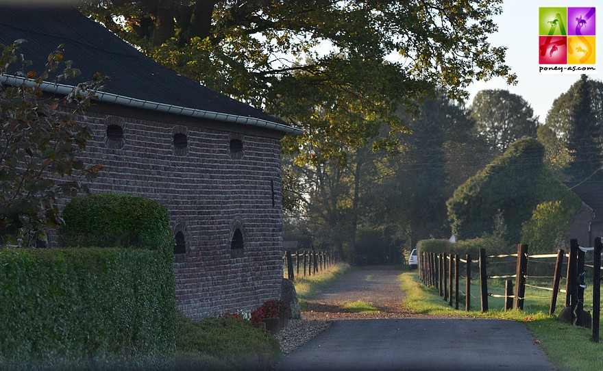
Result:
{"label": "large yellowing tree canopy overhanging the brick building's roof", "polygon": [[[306,129],[284,146],[303,163],[404,129],[400,105],[443,86],[467,95],[502,76],[495,0],[88,1],[82,8],[156,61]],[[384,146],[386,141],[372,141]]]}

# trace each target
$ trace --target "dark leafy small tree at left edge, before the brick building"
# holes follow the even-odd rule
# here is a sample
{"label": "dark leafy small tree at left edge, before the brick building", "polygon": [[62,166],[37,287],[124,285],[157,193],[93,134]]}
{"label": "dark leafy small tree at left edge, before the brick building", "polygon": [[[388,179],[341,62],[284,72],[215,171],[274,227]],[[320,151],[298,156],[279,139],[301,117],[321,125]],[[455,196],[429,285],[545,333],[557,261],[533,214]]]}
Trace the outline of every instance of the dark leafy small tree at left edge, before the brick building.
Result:
{"label": "dark leafy small tree at left edge, before the brick building", "polygon": [[79,71],[63,61],[59,47],[49,55],[45,71],[27,72],[30,62],[19,53],[22,42],[0,44],[0,74],[16,70],[21,78],[10,84],[0,79],[0,245],[32,246],[47,240],[47,227],[62,224],[57,200],[85,190],[79,181],[92,179],[101,169],[77,158],[90,129],[75,117],[82,114],[103,77],[80,84],[67,97],[42,94],[37,85],[41,81],[62,81]]}

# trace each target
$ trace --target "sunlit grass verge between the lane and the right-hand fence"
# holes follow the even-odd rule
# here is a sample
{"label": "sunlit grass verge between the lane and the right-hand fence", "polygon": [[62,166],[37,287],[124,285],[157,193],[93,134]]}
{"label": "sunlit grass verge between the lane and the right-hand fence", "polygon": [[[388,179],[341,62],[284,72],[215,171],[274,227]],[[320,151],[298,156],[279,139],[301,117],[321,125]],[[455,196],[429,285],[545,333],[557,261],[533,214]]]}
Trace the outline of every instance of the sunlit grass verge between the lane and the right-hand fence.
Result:
{"label": "sunlit grass verge between the lane and the right-hand fence", "polygon": [[477,318],[500,318],[525,322],[547,357],[560,371],[598,370],[601,367],[603,343],[590,341],[592,331],[557,322],[555,316],[543,311],[464,311],[452,309],[434,287],[419,281],[417,272],[399,275],[402,290],[406,292],[404,305],[417,313]]}

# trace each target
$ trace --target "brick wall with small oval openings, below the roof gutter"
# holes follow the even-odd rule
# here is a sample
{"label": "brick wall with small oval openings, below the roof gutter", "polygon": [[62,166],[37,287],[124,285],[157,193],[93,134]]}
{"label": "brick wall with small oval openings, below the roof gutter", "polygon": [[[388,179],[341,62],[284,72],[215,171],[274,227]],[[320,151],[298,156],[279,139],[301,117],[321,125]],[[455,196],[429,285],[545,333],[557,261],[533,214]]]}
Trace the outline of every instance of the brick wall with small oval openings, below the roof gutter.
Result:
{"label": "brick wall with small oval openings, below the roof gutter", "polygon": [[[93,138],[84,160],[103,166],[90,190],[156,199],[167,205],[174,234],[184,234],[186,253],[175,255],[174,268],[185,314],[250,311],[279,297],[280,133],[116,106],[86,115]],[[108,125],[121,126],[123,140],[108,140]],[[185,149],[175,149],[175,133],[186,134]],[[231,153],[231,140],[243,143],[241,153]],[[236,229],[242,254],[231,251]]]}

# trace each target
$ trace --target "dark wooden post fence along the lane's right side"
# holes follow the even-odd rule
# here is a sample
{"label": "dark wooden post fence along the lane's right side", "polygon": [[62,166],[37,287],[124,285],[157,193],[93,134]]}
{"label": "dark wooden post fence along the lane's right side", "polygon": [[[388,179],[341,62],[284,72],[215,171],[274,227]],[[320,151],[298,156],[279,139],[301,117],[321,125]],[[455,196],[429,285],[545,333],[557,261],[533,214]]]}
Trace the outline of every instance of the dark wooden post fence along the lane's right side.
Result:
{"label": "dark wooden post fence along the lane's right side", "polygon": [[[489,310],[489,297],[504,298],[503,310],[524,309],[524,302],[530,299],[526,296],[526,287],[535,290],[547,290],[552,292],[550,296],[549,314],[555,313],[557,305],[558,292],[565,293],[565,307],[571,311],[571,323],[582,325],[582,309],[584,305],[584,287],[586,268],[592,268],[593,272],[593,307],[592,307],[592,329],[594,342],[599,342],[599,324],[600,324],[600,285],[601,285],[601,238],[595,238],[594,247],[578,246],[577,240],[570,240],[570,251],[568,254],[559,250],[554,254],[529,255],[528,245],[519,244],[516,254],[504,255],[486,255],[484,248],[480,249],[478,261],[473,261],[471,255],[467,254],[465,259],[459,255],[446,253],[428,253],[419,251],[419,279],[428,287],[434,287],[443,300],[456,309],[459,308],[460,300],[464,297],[465,311],[471,310],[471,277],[472,264],[477,262],[479,267],[480,280],[480,309]],[[584,264],[584,253],[593,251],[593,265]],[[567,270],[563,277],[563,260],[567,257]],[[554,263],[554,274],[552,276],[542,276],[543,271],[550,271],[549,268],[537,269],[530,273],[529,261],[535,263],[539,259],[552,259]],[[496,261],[499,260],[499,261]],[[546,261],[543,261],[546,262]],[[463,277],[460,264],[465,264],[465,277]],[[515,274],[505,274],[504,268],[499,269],[497,274],[488,275],[488,266],[494,264],[507,264],[508,269],[512,269],[510,264],[515,266]],[[542,268],[542,267],[540,267]],[[562,290],[561,280],[566,280],[565,290]],[[465,292],[460,291],[459,281],[465,279]],[[494,294],[488,291],[488,281],[492,279],[504,279],[504,293]],[[513,279],[515,285],[513,285]],[[552,287],[543,287],[539,282],[532,285],[530,279],[551,279]],[[532,296],[532,298],[534,298]],[[539,296],[539,298],[543,298]]]}

